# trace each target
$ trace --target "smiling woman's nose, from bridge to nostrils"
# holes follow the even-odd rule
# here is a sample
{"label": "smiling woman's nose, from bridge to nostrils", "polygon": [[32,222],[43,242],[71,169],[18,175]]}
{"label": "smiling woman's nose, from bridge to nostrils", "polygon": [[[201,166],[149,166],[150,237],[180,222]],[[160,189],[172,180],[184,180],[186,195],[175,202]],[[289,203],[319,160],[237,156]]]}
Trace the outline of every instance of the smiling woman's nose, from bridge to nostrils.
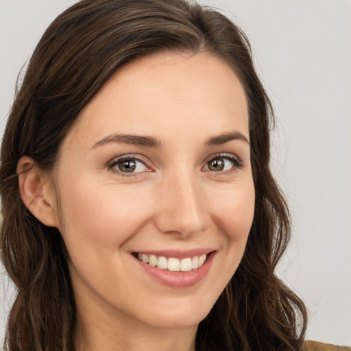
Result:
{"label": "smiling woman's nose, from bridge to nostrils", "polygon": [[158,187],[158,230],[189,237],[204,232],[210,225],[210,213],[204,193],[196,179],[189,175],[174,175]]}

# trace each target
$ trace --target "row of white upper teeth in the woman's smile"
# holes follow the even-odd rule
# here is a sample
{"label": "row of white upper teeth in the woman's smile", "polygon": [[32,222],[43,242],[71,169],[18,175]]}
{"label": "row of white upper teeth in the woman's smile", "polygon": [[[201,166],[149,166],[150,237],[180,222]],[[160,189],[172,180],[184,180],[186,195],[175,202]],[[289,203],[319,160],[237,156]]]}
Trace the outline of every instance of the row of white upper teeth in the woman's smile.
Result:
{"label": "row of white upper teeth in the woman's smile", "polygon": [[144,263],[149,263],[152,267],[160,269],[168,269],[169,271],[191,271],[201,267],[206,261],[206,254],[194,256],[193,258],[165,258],[164,256],[157,257],[155,255],[137,254],[137,258]]}

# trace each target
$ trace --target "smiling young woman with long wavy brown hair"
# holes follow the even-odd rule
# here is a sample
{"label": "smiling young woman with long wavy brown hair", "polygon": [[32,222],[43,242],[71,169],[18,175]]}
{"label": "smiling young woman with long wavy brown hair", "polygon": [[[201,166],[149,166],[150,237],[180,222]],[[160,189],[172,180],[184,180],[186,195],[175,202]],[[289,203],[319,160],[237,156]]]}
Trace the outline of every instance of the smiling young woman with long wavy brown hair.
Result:
{"label": "smiling young woman with long wavy brown hair", "polygon": [[226,17],[81,1],[29,62],[1,149],[8,350],[302,350],[269,99]]}

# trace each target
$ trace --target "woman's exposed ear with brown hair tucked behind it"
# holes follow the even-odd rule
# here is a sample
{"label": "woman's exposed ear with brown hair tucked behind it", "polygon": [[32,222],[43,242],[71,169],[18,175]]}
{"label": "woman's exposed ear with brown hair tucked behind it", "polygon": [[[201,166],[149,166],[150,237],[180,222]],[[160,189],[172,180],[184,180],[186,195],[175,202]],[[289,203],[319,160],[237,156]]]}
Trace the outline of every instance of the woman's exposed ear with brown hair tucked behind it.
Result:
{"label": "woman's exposed ear with brown hair tucked behind it", "polygon": [[48,176],[28,156],[19,160],[17,174],[19,191],[27,209],[46,226],[58,228],[55,194]]}

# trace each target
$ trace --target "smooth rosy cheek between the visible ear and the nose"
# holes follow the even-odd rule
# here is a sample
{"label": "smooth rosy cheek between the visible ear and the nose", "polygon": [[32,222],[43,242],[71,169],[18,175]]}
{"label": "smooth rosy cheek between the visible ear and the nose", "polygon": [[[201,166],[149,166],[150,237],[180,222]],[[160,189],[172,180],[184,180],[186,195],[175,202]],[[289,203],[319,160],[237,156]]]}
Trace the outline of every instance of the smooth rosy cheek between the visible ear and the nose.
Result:
{"label": "smooth rosy cheek between the visible ear and the nose", "polygon": [[116,250],[143,226],[149,208],[147,189],[99,186],[96,180],[62,186],[60,194],[60,231],[71,247],[93,243],[94,250]]}

